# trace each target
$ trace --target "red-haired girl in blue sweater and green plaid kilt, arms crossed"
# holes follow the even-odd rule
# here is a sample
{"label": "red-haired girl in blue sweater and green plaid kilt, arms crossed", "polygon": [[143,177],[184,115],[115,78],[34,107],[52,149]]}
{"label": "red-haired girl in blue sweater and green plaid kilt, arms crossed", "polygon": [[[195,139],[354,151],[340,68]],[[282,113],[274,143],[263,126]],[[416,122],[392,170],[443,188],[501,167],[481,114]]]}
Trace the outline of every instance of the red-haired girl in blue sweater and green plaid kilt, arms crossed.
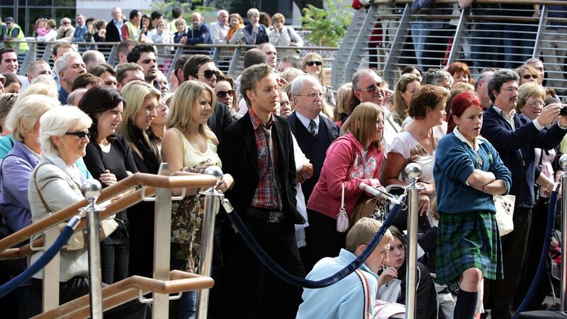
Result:
{"label": "red-haired girl in blue sweater and green plaid kilt, arms crossed", "polygon": [[493,195],[506,194],[512,178],[490,142],[479,137],[482,123],[478,97],[459,94],[451,101],[451,133],[435,154],[437,283],[459,281],[454,318],[473,318],[483,277],[503,278]]}

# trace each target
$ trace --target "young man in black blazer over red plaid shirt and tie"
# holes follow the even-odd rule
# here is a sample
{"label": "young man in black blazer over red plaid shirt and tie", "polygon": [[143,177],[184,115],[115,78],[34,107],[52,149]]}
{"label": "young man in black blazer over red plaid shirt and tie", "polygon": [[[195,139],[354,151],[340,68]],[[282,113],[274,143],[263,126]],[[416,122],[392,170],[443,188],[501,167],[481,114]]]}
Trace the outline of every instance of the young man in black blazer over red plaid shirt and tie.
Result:
{"label": "young man in black blazer over red plaid shirt and tie", "polygon": [[[259,245],[283,269],[305,276],[294,224],[305,219],[296,210],[296,164],[289,125],[274,116],[279,105],[276,74],[266,64],[242,72],[240,92],[249,111],[223,132],[218,155],[234,187],[226,198]],[[286,284],[257,259],[240,236],[232,250],[235,264],[231,304],[225,318],[295,318],[301,289]]]}

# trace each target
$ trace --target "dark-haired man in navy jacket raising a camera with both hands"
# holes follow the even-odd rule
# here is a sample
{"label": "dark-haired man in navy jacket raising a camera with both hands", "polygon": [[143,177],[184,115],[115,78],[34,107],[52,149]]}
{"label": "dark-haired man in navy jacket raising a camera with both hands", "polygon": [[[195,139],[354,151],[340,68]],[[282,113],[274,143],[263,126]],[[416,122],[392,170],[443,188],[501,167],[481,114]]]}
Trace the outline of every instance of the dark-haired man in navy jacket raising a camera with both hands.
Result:
{"label": "dark-haired man in navy jacket raising a camera with both hands", "polygon": [[[527,235],[534,206],[534,148],[556,147],[567,132],[567,116],[559,116],[561,104],[551,104],[534,120],[515,113],[520,77],[511,69],[499,69],[488,82],[488,95],[493,101],[483,113],[481,135],[498,151],[512,172],[509,194],[516,196],[514,230],[500,237],[504,279],[485,280],[485,308],[493,318],[510,319],[512,299],[517,289],[525,258]],[[553,124],[556,119],[556,124]],[[549,127],[549,128],[546,128]]]}

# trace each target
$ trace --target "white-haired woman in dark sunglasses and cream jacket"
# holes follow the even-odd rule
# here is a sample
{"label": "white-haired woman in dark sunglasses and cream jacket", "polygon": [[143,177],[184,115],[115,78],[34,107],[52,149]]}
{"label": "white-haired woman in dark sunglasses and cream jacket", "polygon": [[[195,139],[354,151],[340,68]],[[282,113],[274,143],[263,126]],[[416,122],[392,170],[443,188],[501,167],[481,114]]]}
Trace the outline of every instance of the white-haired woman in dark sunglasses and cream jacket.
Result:
{"label": "white-haired woman in dark sunglasses and cream jacket", "polygon": [[[75,162],[86,155],[92,120],[77,106],[57,106],[40,118],[42,159],[30,177],[28,199],[32,223],[83,201],[86,181]],[[147,250],[147,248],[145,248]],[[35,262],[42,252],[31,257]],[[60,252],[60,302],[67,303],[89,293],[89,259],[86,247]],[[42,292],[43,272],[33,276],[36,293]],[[150,308],[137,301],[104,313],[104,318],[151,318]]]}

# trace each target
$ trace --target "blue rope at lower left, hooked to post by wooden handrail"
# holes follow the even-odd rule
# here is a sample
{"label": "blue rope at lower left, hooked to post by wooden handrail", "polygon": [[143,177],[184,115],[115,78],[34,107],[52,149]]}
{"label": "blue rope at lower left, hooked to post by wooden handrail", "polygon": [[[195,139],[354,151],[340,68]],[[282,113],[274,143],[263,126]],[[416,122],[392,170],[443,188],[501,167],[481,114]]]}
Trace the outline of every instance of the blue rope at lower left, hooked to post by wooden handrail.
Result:
{"label": "blue rope at lower left, hooked to post by wooden handrail", "polygon": [[71,238],[74,233],[74,227],[76,227],[77,223],[79,223],[79,220],[80,218],[77,216],[72,218],[72,220],[70,220],[69,223],[67,223],[67,225],[61,230],[61,234],[57,237],[57,240],[53,242],[53,245],[51,245],[51,247],[49,247],[49,249],[46,250],[38,260],[31,264],[24,272],[13,277],[13,279],[8,281],[6,284],[0,286],[0,298],[18,288],[18,286],[23,284],[24,281],[30,279],[31,276],[37,272],[40,272],[51,261],[51,259],[60,252],[62,247],[67,243],[67,240]]}

